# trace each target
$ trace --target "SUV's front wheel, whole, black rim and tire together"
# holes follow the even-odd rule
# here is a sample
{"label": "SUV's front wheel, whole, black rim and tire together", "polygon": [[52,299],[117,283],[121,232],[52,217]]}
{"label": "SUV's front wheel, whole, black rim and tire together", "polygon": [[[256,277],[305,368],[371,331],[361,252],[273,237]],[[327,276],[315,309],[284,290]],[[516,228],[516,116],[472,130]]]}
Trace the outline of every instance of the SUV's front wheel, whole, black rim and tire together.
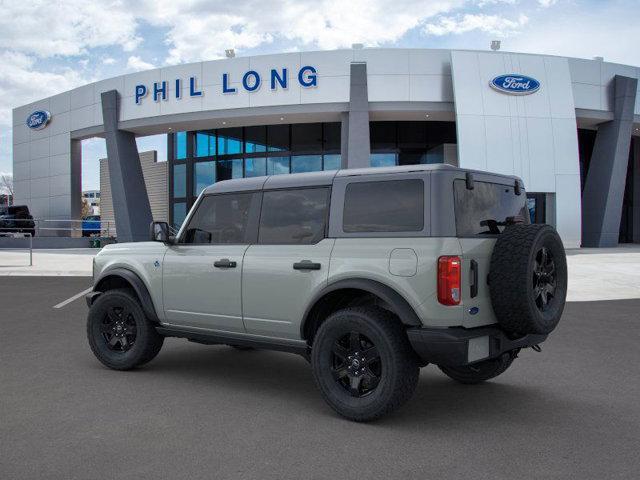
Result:
{"label": "SUV's front wheel, whole, black rim and tire together", "polygon": [[151,361],[162,348],[162,337],[149,322],[138,299],[124,289],[100,295],[87,317],[89,346],[103,365],[130,370]]}

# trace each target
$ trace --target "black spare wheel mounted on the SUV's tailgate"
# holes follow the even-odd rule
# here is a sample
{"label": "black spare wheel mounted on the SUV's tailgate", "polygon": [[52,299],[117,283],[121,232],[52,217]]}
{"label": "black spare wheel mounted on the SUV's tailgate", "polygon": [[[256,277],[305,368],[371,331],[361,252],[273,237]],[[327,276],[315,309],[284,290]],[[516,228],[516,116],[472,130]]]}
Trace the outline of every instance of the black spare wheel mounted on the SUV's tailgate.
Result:
{"label": "black spare wheel mounted on the SUV's tailgate", "polygon": [[567,259],[558,232],[544,224],[505,228],[491,255],[489,287],[506,331],[551,333],[567,296]]}

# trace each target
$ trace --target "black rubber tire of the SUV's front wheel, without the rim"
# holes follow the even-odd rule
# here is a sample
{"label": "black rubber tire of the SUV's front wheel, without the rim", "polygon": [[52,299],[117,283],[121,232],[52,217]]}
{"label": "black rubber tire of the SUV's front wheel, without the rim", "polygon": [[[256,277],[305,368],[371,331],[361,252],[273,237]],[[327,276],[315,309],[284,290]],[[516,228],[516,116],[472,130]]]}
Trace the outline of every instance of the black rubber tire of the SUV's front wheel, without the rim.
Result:
{"label": "black rubber tire of the SUV's front wheel, without the rim", "polygon": [[[112,307],[126,309],[129,318],[135,321],[135,341],[127,351],[110,349],[101,331]],[[150,362],[164,342],[164,337],[145,316],[138,299],[127,289],[108,290],[93,302],[87,316],[87,338],[96,358],[114,370],[130,370]]]}

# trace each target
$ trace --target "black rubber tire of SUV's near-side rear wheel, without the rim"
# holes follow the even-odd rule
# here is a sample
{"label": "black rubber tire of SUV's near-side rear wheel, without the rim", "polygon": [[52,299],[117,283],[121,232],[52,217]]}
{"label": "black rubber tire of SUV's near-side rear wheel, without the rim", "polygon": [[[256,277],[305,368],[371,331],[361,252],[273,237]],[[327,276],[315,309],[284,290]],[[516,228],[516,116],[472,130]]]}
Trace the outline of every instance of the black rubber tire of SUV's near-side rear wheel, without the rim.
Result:
{"label": "black rubber tire of SUV's near-side rear wheel, without the rim", "polygon": [[[362,397],[352,396],[332,373],[334,345],[351,332],[369,339],[379,354],[379,383]],[[331,314],[315,335],[311,367],[329,406],[357,422],[374,420],[404,404],[415,391],[420,370],[402,324],[379,307],[351,307]]]}

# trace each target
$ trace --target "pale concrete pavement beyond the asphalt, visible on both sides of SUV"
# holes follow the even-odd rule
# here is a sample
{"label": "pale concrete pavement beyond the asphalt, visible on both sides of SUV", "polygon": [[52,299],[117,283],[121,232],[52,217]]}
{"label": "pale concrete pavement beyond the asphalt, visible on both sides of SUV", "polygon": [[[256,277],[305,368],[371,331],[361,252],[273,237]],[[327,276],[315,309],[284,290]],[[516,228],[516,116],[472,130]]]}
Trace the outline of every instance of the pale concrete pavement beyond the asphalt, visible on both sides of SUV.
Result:
{"label": "pale concrete pavement beyond the asphalt, visible on both sides of SUV", "polygon": [[[98,249],[0,250],[0,276],[88,276]],[[567,250],[568,300],[640,298],[640,245]]]}

